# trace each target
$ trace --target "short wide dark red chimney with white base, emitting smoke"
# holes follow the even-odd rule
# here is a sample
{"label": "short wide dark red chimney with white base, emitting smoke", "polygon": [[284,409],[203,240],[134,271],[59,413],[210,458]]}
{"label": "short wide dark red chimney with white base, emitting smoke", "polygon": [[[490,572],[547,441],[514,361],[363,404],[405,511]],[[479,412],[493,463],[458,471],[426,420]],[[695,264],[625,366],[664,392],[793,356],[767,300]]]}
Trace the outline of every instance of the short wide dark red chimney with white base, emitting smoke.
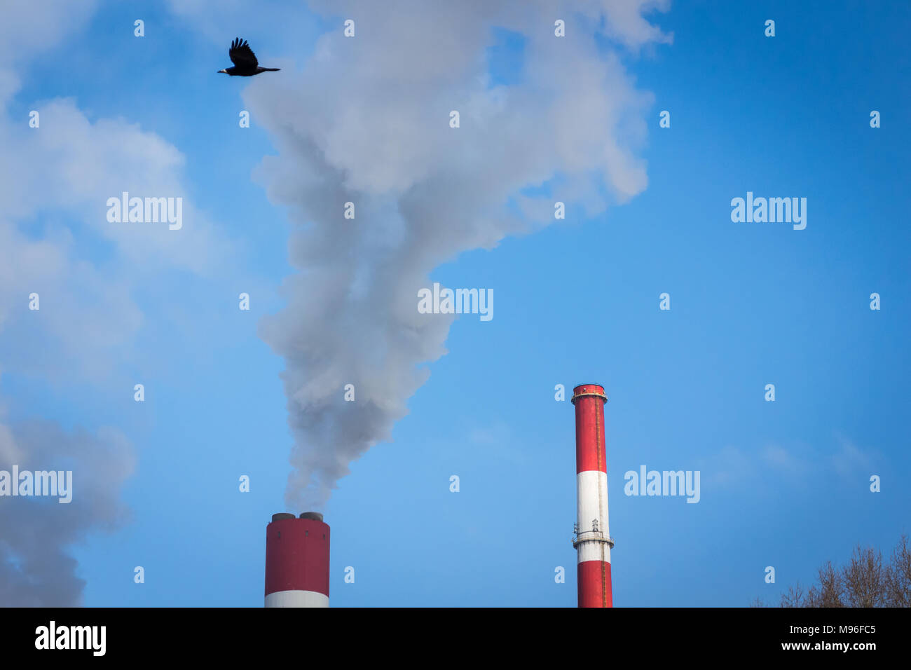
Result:
{"label": "short wide dark red chimney with white base, emitting smoke", "polygon": [[266,607],[329,606],[329,526],[322,514],[272,514],[266,526]]}

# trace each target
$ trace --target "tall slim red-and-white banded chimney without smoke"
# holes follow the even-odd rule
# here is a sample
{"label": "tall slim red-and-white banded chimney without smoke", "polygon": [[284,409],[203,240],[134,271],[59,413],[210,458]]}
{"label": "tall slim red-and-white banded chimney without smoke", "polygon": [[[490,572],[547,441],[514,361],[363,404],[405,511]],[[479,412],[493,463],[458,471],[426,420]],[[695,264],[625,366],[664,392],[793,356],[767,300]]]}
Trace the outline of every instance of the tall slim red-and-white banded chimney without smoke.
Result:
{"label": "tall slim red-and-white banded chimney without smoke", "polygon": [[573,547],[578,551],[578,606],[613,607],[610,593],[608,467],[604,449],[604,387],[573,389],[576,406],[576,509]]}

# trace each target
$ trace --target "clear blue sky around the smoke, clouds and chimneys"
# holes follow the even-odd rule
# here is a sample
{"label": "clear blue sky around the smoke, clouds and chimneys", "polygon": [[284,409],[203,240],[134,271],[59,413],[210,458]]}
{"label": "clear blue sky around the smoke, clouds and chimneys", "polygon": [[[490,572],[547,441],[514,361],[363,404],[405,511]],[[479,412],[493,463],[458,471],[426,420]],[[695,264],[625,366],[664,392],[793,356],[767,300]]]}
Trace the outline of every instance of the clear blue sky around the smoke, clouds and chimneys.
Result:
{"label": "clear blue sky around the smoke, clouds and chimneys", "polygon": [[[28,348],[31,326],[0,321],[5,422],[113,426],[136,455],[121,496],[128,517],[110,532],[89,528],[69,550],[88,606],[262,603],[265,524],[286,510],[293,438],[284,361],[258,327],[283,305],[290,225],[257,171],[281,155],[275,134],[255,113],[250,129],[237,123],[255,108],[244,88],[268,83],[216,70],[241,35],[294,86],[292,72],[343,20],[265,6],[266,17],[218,33],[223,17],[203,28],[155,3],[101,3],[18,68],[5,105],[19,120],[73,98],[93,124],[122,119],[158,136],[183,156],[182,192],[232,247],[230,264],[210,273],[134,276],[141,325],[104,375],[67,374],[65,361],[54,375],[19,366],[24,351],[40,356]],[[282,12],[273,36],[268,19]],[[630,198],[600,188],[609,207],[589,216],[567,201],[566,221],[458,253],[431,273],[492,288],[495,317],[455,320],[448,353],[426,365],[393,439],[339,480],[325,508],[333,606],[575,606],[574,419],[568,400],[554,399],[557,384],[599,383],[610,397],[617,606],[776,602],[855,543],[887,550],[909,531],[911,12],[674,2],[646,17],[672,42],[623,46],[605,31],[599,45],[651,96],[633,105],[647,186]],[[768,18],[774,37],[763,35]],[[489,86],[521,86],[533,74],[526,39],[502,26],[486,39]],[[659,127],[665,109],[670,129]],[[806,229],[732,222],[730,202],[747,191],[805,197]],[[32,240],[69,230],[74,258],[117,284],[129,263],[85,216],[37,206],[15,226]],[[250,312],[237,309],[243,291]],[[670,311],[659,309],[662,293]],[[869,308],[871,293],[881,310]],[[144,403],[133,401],[135,383]],[[623,474],[640,465],[700,470],[700,502],[625,496]],[[871,475],[881,492],[869,490]],[[144,584],[133,582],[138,565]],[[763,581],[770,565],[774,584]],[[346,566],[354,583],[343,581]],[[565,583],[554,580],[558,566]]]}

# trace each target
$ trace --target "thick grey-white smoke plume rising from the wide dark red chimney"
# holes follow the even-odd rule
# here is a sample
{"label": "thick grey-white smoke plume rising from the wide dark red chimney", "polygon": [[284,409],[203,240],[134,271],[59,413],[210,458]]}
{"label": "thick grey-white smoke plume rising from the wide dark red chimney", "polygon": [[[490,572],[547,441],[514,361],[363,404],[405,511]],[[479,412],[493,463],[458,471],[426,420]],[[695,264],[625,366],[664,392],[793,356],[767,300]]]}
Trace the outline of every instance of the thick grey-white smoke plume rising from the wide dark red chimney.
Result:
{"label": "thick grey-white smoke plume rising from the wide dark red chimney", "polygon": [[[445,354],[452,317],[416,309],[437,265],[553,222],[555,201],[594,214],[608,205],[601,185],[614,201],[645,189],[633,150],[651,98],[595,33],[632,50],[670,40],[642,16],[664,3],[640,0],[311,5],[338,28],[302,71],[258,77],[244,96],[279,151],[256,176],[288,209],[300,271],[282,286],[286,308],[261,323],[286,362],[292,510],[320,508],[350,463],[389,439],[425,364]],[[496,27],[526,39],[509,86],[486,74]],[[547,198],[519,193],[557,176]]]}

